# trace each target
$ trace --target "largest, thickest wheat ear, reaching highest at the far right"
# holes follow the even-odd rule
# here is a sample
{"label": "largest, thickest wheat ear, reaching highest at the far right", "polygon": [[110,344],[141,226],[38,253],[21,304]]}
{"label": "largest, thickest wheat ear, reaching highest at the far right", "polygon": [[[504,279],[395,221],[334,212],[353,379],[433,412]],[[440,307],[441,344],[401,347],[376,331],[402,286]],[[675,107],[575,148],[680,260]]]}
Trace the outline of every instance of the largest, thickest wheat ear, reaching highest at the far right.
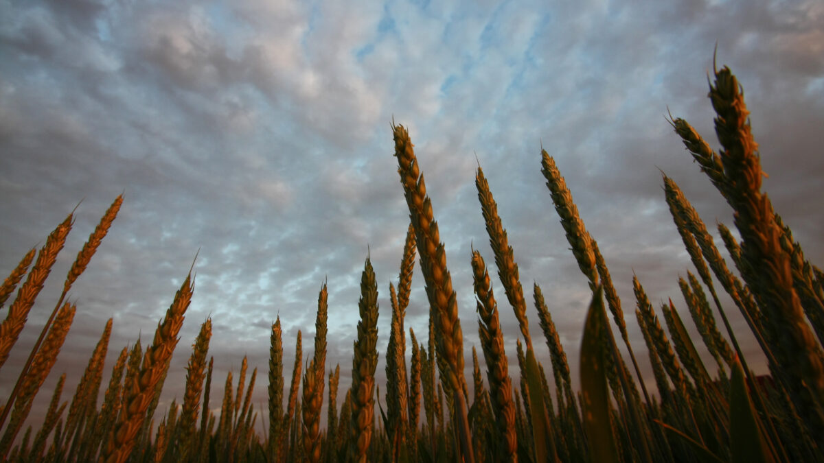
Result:
{"label": "largest, thickest wheat ear, reaching highest at the far right", "polygon": [[[810,429],[824,428],[824,358],[793,288],[789,255],[781,249],[781,230],[772,204],[761,193],[761,161],[752,138],[749,111],[735,76],[714,70],[709,98],[717,114],[715,133],[729,182],[729,199],[742,236],[742,276],[762,302],[765,328],[777,340],[774,353],[788,376],[790,395]],[[757,270],[756,270],[757,269]]]}

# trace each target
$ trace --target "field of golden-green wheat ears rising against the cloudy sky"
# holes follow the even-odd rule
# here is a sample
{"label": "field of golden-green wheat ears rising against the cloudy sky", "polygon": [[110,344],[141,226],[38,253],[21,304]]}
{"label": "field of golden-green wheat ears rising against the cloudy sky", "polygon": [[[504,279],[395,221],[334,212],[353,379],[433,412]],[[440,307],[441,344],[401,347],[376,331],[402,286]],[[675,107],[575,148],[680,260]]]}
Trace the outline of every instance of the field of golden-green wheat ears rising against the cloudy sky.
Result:
{"label": "field of golden-green wheat ears rising against the cloudy sky", "polygon": [[[741,239],[719,224],[731,256],[725,260],[676,181],[663,175],[662,201],[694,271],[678,279],[681,295],[658,308],[638,278],[633,281],[635,301],[620,301],[555,159],[543,149],[540,159],[536,157],[536,170],[540,161],[549,190],[547,200],[592,292],[581,327],[579,391],[573,389],[565,353],[577,346],[561,343],[546,303],[551,294],[537,284],[531,297],[524,294],[513,248],[480,166],[475,185],[494,255],[485,259],[473,249],[468,263],[450,263],[472,269],[478,325],[474,320],[461,324],[423,167],[407,129],[393,122],[394,156],[410,226],[399,250],[398,279],[389,285],[391,307],[382,310],[382,316],[391,317],[385,355],[377,351],[378,278],[366,256],[351,384],[339,382],[340,365],[326,364],[324,285],[310,356],[303,357],[300,332],[297,339],[283,339],[278,317],[271,326],[267,371],[260,373],[266,385],[257,383],[257,367],[244,358],[238,372],[228,372],[223,396],[213,396],[213,381],[222,378],[213,378],[215,359],[208,355],[212,320],[206,320],[195,339],[184,339],[191,343],[190,352],[178,352],[189,355],[182,403],[158,410],[194,293],[190,269],[151,342],[144,341],[144,346],[136,337],[131,346],[117,346],[121,350],[115,364],[104,371],[109,320],[79,383],[64,384],[63,374],[51,397],[38,398],[72,326],[76,307],[66,300],[68,292],[115,220],[123,203],[119,196],[78,252],[63,292],[28,353],[14,346],[63,249],[73,214],[40,250],[28,251],[2,283],[0,368],[10,355],[26,362],[16,380],[4,376],[15,386],[2,398],[0,461],[824,461],[824,274],[804,259],[801,245],[761,189],[760,155],[737,78],[728,68],[714,68],[712,77],[709,100],[719,151],[685,120],[669,122],[718,189],[719,199],[733,208],[733,225]],[[416,259],[423,282],[412,281]],[[493,259],[491,268],[487,261]],[[499,277],[497,288],[503,288],[498,299],[494,274]],[[413,283],[423,284],[428,298],[429,329],[420,338],[404,326]],[[501,329],[498,301],[504,296],[517,319],[517,333]],[[722,297],[732,304],[722,304]],[[625,316],[630,306],[643,346],[630,344]],[[734,311],[746,320],[767,359],[769,375],[756,376],[747,366],[737,342],[740,334],[728,320]],[[530,316],[544,339],[531,339]],[[689,324],[700,336],[688,334]],[[478,330],[480,352],[464,344],[464,329]],[[517,366],[509,364],[504,349],[510,336],[517,339]],[[295,358],[284,358],[283,343],[295,343]],[[549,349],[549,365],[536,359],[536,344],[541,343]],[[465,376],[470,348],[471,387]],[[634,348],[648,352],[655,390],[645,386]],[[705,363],[698,349],[709,351],[713,363]],[[381,360],[384,388],[376,383]],[[285,376],[288,362],[293,365],[291,381]],[[63,389],[73,386],[68,398]],[[255,386],[268,394],[268,409],[260,413],[250,403]],[[344,396],[340,404],[339,391]],[[23,429],[35,399],[48,400],[48,411],[37,426]],[[219,413],[213,413],[218,404]],[[327,426],[321,428],[324,404]],[[267,426],[260,427],[264,421]]]}

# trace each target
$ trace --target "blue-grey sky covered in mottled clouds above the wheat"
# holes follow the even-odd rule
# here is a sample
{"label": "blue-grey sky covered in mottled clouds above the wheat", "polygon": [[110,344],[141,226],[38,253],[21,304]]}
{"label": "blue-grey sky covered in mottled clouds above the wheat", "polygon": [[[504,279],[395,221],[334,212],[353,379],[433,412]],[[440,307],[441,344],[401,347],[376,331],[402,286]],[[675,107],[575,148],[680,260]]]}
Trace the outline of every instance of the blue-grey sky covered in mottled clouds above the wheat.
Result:
{"label": "blue-grey sky covered in mottled clouds above the wheat", "polygon": [[[808,260],[824,261],[822,2],[364,3],[0,1],[0,270],[42,246],[82,199],[0,395],[77,250],[124,191],[119,217],[71,292],[77,316],[35,415],[61,372],[70,398],[108,318],[105,381],[121,348],[138,334],[144,345],[151,339],[198,250],[194,298],[159,409],[181,400],[189,346],[209,315],[213,407],[244,355],[260,368],[255,406],[265,405],[271,323],[280,316],[291,374],[298,330],[311,354],[327,279],[327,368],[339,363],[342,396],[368,249],[381,353],[388,339],[388,287],[408,224],[393,117],[409,127],[426,175],[468,366],[471,346],[480,347],[471,243],[494,262],[475,192],[477,157],[523,286],[531,293],[533,281],[541,284],[577,376],[590,296],[541,175],[542,143],[610,266],[648,370],[631,316],[633,271],[653,305],[672,297],[688,318],[677,278],[691,268],[658,169],[711,230],[716,220],[733,228],[665,119],[669,108],[717,146],[706,98],[716,43],[719,65],[745,90],[770,175],[764,188]],[[494,283],[514,355],[517,323]],[[416,269],[406,326],[422,337],[427,312]],[[728,313],[763,371],[746,325],[733,307]],[[528,315],[541,339],[534,310]],[[545,345],[536,346],[549,365]],[[382,358],[379,378],[384,366]]]}

